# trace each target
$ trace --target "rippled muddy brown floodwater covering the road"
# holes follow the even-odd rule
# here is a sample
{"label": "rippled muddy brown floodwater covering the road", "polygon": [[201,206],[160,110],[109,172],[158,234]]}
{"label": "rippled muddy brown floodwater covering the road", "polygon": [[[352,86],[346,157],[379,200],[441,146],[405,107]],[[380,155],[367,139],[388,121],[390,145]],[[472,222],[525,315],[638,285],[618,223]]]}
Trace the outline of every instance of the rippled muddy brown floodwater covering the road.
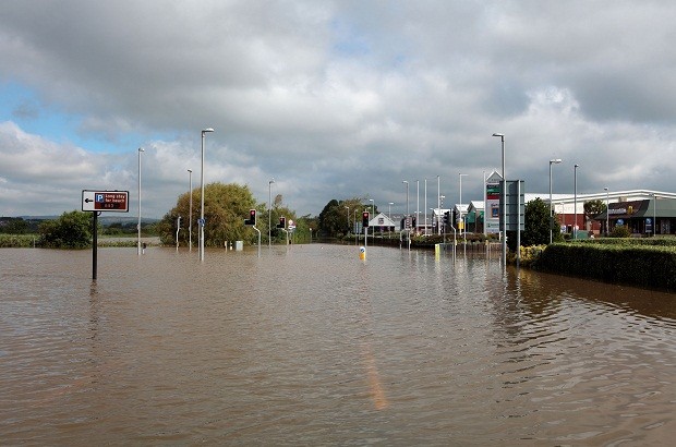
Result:
{"label": "rippled muddy brown floodwater covering the road", "polygon": [[676,294],[481,255],[0,250],[2,445],[667,445]]}

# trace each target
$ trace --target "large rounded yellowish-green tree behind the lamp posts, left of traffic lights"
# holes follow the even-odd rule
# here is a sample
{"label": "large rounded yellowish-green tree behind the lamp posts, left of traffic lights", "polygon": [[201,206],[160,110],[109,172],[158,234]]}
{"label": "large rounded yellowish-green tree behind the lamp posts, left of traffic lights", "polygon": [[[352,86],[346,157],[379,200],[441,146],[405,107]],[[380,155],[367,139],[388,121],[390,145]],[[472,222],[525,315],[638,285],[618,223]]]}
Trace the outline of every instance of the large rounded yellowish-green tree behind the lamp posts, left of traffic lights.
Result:
{"label": "large rounded yellowish-green tree behind the lamp posts, left of traffic lights", "polygon": [[[200,241],[201,190],[193,191],[192,210],[192,240],[193,245]],[[204,188],[204,244],[205,246],[222,246],[225,241],[244,241],[257,243],[257,233],[250,227],[244,226],[244,219],[249,217],[249,210],[257,210],[256,228],[267,234],[267,214],[264,205],[256,202],[249,186],[237,183],[224,184],[214,182]],[[190,192],[179,196],[177,205],[162,217],[157,224],[157,232],[165,244],[176,243],[176,224],[181,216],[181,231],[179,242],[183,245],[189,240]]]}

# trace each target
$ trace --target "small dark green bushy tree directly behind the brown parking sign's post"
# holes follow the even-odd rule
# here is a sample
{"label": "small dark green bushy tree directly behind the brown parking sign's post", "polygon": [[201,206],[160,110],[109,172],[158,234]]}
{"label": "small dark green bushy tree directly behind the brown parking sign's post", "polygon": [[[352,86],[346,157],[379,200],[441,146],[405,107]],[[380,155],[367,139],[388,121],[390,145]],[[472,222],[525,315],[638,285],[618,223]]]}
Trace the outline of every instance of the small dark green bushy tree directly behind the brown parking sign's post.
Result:
{"label": "small dark green bushy tree directly behind the brown parking sign's post", "polygon": [[92,213],[73,210],[58,219],[40,224],[39,244],[49,249],[86,249],[92,246]]}

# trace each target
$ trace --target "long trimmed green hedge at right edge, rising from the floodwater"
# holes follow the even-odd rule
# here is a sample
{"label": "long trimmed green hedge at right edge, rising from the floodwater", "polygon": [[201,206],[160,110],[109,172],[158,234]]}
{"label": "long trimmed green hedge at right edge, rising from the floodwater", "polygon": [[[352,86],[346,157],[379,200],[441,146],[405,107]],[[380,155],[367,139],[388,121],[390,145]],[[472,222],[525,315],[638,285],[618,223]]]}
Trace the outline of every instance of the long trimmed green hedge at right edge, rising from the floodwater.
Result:
{"label": "long trimmed green hedge at right edge, rising from the floodwater", "polygon": [[676,291],[676,249],[645,244],[551,244],[534,268]]}

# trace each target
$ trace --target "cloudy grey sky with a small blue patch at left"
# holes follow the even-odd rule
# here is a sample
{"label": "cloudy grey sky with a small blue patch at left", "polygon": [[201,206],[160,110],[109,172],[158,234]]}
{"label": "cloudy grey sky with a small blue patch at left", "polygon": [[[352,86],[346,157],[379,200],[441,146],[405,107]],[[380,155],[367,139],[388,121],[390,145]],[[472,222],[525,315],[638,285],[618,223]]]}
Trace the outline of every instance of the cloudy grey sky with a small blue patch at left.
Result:
{"label": "cloudy grey sky with a small blue patch at left", "polygon": [[[161,217],[205,181],[381,210],[529,193],[674,192],[676,2],[0,2],[0,215],[130,191]],[[434,205],[433,205],[434,203]]]}

